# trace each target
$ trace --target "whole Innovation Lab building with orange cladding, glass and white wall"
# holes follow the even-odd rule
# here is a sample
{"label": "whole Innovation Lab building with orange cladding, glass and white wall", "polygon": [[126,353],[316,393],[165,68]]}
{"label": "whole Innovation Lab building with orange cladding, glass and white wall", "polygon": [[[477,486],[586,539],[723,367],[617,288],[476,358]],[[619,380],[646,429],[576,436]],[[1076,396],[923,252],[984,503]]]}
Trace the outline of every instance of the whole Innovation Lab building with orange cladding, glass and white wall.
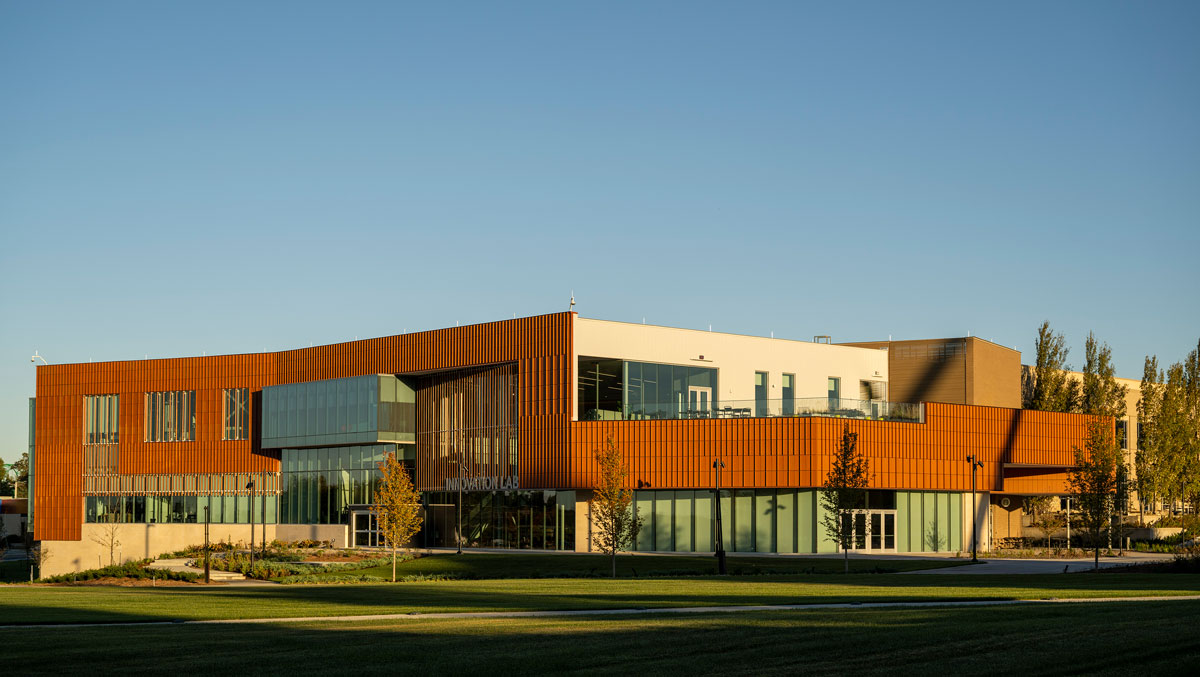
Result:
{"label": "whole Innovation Lab building with orange cladding, glass and white wall", "polygon": [[848,427],[872,473],[856,549],[964,551],[986,547],[994,502],[1062,492],[1085,435],[1085,417],[1016,408],[1019,377],[1019,353],[978,338],[830,345],[576,313],[38,366],[34,532],[47,573],[104,563],[106,534],[122,559],[178,550],[205,520],[233,541],[374,545],[374,466],[395,453],[424,492],[419,544],[455,543],[461,497],[468,546],[587,551],[593,453],[612,441],[638,550],[714,550],[720,459],[727,550],[833,552],[816,489]]}

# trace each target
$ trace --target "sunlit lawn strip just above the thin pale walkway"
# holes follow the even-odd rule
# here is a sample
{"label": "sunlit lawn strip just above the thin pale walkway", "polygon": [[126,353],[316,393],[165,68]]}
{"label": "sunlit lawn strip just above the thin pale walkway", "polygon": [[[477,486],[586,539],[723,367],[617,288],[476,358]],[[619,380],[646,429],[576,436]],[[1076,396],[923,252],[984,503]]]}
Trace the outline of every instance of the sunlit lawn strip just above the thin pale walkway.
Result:
{"label": "sunlit lawn strip just above the thin pale walkway", "polygon": [[356,586],[0,588],[0,623],[97,623],[433,611],[631,609],[1200,593],[1200,575],[808,575],[509,579]]}

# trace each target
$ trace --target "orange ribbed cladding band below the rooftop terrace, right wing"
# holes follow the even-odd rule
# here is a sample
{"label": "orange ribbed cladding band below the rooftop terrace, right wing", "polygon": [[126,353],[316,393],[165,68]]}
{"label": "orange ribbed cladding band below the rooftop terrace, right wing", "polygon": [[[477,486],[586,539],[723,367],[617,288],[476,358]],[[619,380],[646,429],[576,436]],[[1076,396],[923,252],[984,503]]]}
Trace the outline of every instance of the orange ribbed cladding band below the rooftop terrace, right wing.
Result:
{"label": "orange ribbed cladding band below the rooftop terrace, right wing", "polygon": [[[821,486],[845,427],[871,468],[871,486],[970,491],[967,455],[984,466],[980,491],[1009,491],[1004,465],[1073,465],[1088,417],[970,405],[929,403],[925,423],[832,418],[576,421],[571,424],[571,485],[594,486],[595,449],[608,438],[642,489],[708,489],[713,459],[725,462],[721,485],[745,489]],[[1013,480],[1008,479],[1007,485]],[[1042,474],[1037,492],[1066,491],[1062,473]],[[1019,480],[1013,486],[1025,486]]]}

